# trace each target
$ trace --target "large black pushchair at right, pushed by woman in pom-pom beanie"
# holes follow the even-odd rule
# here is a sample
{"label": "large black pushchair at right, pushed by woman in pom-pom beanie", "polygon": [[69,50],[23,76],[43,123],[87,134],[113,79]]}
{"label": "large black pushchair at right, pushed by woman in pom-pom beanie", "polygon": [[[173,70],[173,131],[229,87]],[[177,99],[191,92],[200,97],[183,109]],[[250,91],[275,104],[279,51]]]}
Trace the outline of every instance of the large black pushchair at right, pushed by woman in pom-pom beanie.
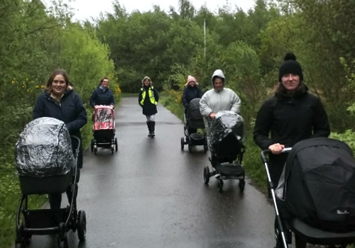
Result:
{"label": "large black pushchair at right, pushed by woman in pom-pom beanie", "polygon": [[276,190],[266,158],[271,151],[261,152],[275,206],[276,247],[292,243],[284,230],[295,233],[296,248],[354,243],[355,159],[350,147],[322,137],[283,152],[290,153]]}

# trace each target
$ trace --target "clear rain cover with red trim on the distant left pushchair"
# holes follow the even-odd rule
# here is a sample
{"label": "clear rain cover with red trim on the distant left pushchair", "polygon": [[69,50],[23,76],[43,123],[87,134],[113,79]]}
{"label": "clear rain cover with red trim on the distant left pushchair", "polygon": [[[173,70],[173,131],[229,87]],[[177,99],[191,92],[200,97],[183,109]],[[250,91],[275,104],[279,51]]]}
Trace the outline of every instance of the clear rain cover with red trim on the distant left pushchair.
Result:
{"label": "clear rain cover with red trim on the distant left pushchair", "polygon": [[110,106],[98,106],[94,109],[94,130],[114,129],[114,109]]}

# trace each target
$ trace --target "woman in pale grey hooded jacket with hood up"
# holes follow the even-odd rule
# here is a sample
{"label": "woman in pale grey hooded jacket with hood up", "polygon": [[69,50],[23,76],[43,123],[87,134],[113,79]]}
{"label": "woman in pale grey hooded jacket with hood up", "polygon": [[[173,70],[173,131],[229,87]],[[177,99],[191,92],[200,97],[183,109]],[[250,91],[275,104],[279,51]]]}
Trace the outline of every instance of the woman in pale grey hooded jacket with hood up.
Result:
{"label": "woman in pale grey hooded jacket with hood up", "polygon": [[213,89],[207,91],[200,100],[200,112],[204,117],[204,126],[209,143],[209,119],[213,119],[219,111],[233,111],[239,113],[241,100],[231,89],[225,88],[225,77],[221,69],[212,74]]}

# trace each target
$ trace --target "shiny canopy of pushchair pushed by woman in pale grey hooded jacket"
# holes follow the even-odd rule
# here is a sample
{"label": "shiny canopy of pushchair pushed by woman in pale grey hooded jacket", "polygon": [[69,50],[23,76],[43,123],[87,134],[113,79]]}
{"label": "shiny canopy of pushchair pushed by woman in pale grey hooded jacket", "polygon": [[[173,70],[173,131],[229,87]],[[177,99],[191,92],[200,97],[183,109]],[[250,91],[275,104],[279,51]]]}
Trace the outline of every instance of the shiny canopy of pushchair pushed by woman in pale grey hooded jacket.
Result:
{"label": "shiny canopy of pushchair pushed by woman in pale grey hooded jacket", "polygon": [[234,134],[237,140],[244,145],[245,130],[244,119],[233,111],[218,112],[209,126],[210,143],[214,145],[224,140],[229,134]]}

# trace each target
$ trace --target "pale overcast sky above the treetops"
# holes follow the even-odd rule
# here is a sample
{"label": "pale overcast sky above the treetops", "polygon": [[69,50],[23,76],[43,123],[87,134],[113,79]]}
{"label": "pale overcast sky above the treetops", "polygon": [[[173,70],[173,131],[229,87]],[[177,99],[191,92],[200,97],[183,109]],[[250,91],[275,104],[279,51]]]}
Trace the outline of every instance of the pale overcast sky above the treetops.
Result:
{"label": "pale overcast sky above the treetops", "polygon": [[[48,0],[44,0],[49,2]],[[253,8],[255,0],[190,0],[196,9],[200,9],[204,3],[207,4],[207,8],[210,11],[218,9],[229,3],[234,9],[234,6],[238,6],[244,11],[248,11]],[[64,0],[67,4],[72,6],[75,12],[74,19],[78,21],[84,21],[85,19],[91,19],[90,17],[97,18],[99,13],[113,12],[112,0]],[[178,11],[178,0],[119,0],[121,6],[124,6],[126,11],[131,12],[134,10],[149,11],[153,9],[153,5],[160,6],[160,9],[164,11],[169,10],[169,6],[174,6],[175,11]]]}

